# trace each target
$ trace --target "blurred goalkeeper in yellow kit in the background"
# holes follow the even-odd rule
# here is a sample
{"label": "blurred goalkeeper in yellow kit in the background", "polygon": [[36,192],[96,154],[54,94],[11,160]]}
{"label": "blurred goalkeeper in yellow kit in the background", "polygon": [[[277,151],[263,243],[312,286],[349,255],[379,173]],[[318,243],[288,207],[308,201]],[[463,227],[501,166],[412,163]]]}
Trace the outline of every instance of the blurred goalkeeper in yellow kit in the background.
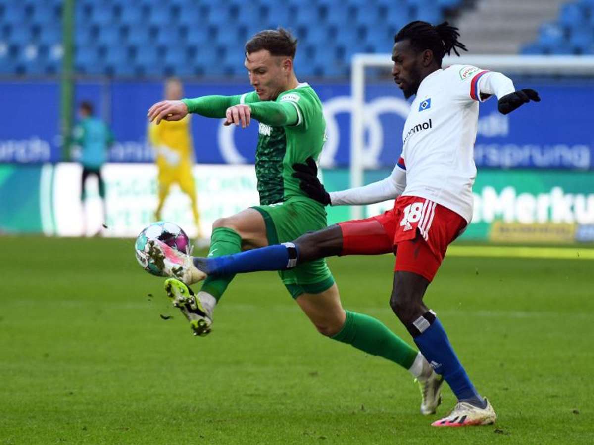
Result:
{"label": "blurred goalkeeper in yellow kit in the background", "polygon": [[[179,100],[183,96],[182,83],[176,78],[165,82],[165,99]],[[156,220],[161,219],[161,211],[169,189],[175,183],[186,195],[192,204],[194,224],[201,236],[200,214],[192,166],[194,165],[194,150],[190,134],[190,115],[181,120],[163,121],[162,125],[149,124],[149,140],[157,152],[157,167],[159,169],[159,204],[155,211]]]}

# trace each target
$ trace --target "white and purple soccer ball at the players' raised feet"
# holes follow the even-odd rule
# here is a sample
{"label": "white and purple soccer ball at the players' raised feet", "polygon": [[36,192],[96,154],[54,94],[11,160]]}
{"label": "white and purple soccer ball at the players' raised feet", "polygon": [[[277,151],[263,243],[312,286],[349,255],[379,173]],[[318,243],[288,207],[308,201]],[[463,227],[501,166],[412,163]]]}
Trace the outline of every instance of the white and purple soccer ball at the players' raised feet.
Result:
{"label": "white and purple soccer ball at the players' raised feet", "polygon": [[144,230],[140,232],[140,235],[138,235],[136,243],[134,244],[138,263],[143,266],[143,269],[149,272],[149,274],[167,276],[167,274],[160,270],[156,264],[149,262],[149,258],[144,252],[144,246],[146,246],[151,239],[163,241],[163,243],[173,247],[173,249],[187,253],[189,250],[189,238],[179,225],[168,221],[153,222],[153,224],[149,225],[149,227],[145,227]]}

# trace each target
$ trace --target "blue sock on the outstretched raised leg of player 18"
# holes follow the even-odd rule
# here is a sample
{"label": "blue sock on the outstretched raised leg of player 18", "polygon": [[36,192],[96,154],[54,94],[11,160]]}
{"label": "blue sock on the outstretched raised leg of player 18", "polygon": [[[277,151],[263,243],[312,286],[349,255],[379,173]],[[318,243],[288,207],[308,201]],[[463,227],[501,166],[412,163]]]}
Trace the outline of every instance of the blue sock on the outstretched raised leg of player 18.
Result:
{"label": "blue sock on the outstretched raised leg of player 18", "polygon": [[235,275],[257,271],[285,271],[297,265],[299,250],[293,243],[275,244],[210,258],[194,257],[194,266],[209,276]]}

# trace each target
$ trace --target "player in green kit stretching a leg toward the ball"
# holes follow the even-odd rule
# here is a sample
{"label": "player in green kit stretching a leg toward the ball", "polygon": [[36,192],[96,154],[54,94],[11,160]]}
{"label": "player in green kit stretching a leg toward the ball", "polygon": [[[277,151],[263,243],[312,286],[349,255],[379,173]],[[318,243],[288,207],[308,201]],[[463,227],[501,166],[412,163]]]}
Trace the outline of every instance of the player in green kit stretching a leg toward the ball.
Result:
{"label": "player in green kit stretching a leg toward the ball", "polygon": [[[294,163],[319,157],[326,135],[320,98],[307,83],[299,83],[293,72],[295,50],[296,40],[288,31],[261,31],[245,45],[245,67],[255,91],[162,101],[149,110],[149,119],[157,124],[162,119],[182,119],[188,113],[226,117],[225,125],[242,128],[250,125],[251,119],[259,121],[255,169],[260,205],[216,220],[208,256],[283,243],[327,225],[324,206],[309,198],[292,176]],[[167,247],[151,243],[147,254],[154,262],[163,263],[170,253]],[[318,332],[409,370],[421,386],[421,413],[435,413],[441,402],[441,377],[380,320],[343,309],[324,259],[279,274]],[[198,279],[184,277],[182,282],[175,273],[172,275],[174,278],[165,282],[169,298],[187,317],[195,335],[207,335],[214,306],[233,276],[207,278],[200,292],[194,294],[187,285]]]}

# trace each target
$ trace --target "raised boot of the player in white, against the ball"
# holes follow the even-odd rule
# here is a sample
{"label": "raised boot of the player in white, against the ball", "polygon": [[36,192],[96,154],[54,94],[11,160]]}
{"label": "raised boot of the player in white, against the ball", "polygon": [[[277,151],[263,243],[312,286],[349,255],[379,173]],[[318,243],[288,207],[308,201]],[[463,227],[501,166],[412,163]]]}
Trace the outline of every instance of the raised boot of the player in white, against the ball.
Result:
{"label": "raised boot of the player in white, against the ball", "polygon": [[190,285],[202,281],[206,274],[194,266],[192,256],[179,252],[160,240],[149,240],[144,246],[149,262],[173,278],[178,278]]}

